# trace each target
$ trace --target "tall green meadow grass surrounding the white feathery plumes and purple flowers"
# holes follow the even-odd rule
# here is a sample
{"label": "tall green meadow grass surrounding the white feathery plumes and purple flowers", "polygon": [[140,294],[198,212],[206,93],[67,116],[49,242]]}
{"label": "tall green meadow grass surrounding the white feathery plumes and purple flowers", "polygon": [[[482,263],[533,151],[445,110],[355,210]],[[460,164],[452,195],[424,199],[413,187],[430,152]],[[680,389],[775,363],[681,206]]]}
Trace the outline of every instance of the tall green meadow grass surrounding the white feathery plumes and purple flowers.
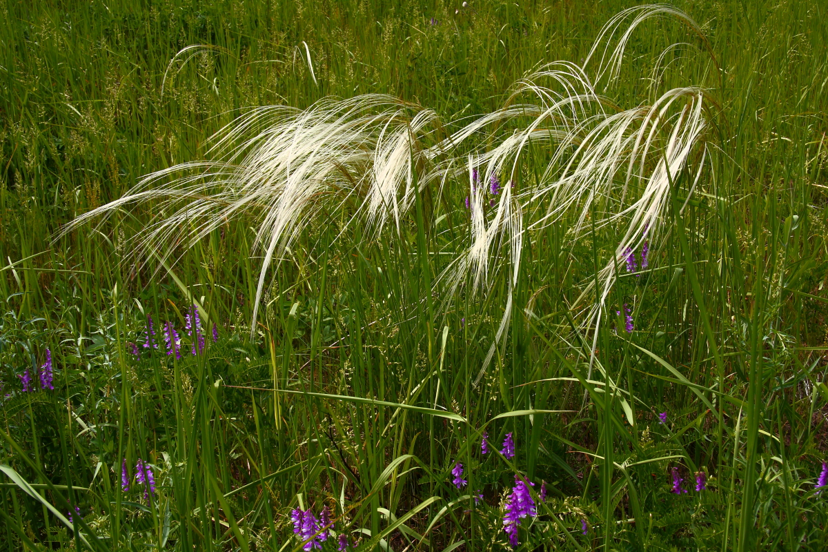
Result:
{"label": "tall green meadow grass surrounding the white feathery plumes and purple flowers", "polygon": [[[625,7],[5,2],[0,541],[301,550],[291,510],[328,506],[335,532],[365,550],[494,550],[508,546],[503,506],[518,474],[538,502],[520,528],[525,549],[824,548],[828,27],[818,2],[677,3],[700,34],[652,18],[630,36],[617,78],[597,79],[599,57],[585,65],[607,113],[705,90],[705,157],[700,148],[667,173],[647,270],[627,273],[618,257],[630,218],[601,224],[642,194],[633,179],[622,198],[620,171],[585,214],[573,204],[532,226],[551,199],[525,203],[522,247],[484,256],[484,285],[469,271],[446,277],[476,235],[469,154],[485,158],[532,118],[446,138],[530,101],[510,94],[542,65],[580,65]],[[214,161],[209,137],[251,108],[359,94],[436,113],[407,153],[412,195],[398,223],[360,218],[365,186],[346,193],[358,174],[338,173],[339,188],[314,196],[315,217],[267,265],[262,203],[213,219],[193,242],[197,218],[165,227],[168,239],[136,239],[181,209],[160,197],[60,234],[144,175]],[[541,190],[547,169],[561,174],[572,150],[550,143],[527,142],[513,194]],[[660,162],[648,158],[644,172]],[[508,169],[498,175],[505,184]],[[619,275],[609,287],[605,266]],[[590,311],[602,290],[604,309]],[[193,302],[208,334],[196,356],[184,332]],[[141,347],[147,315],[156,352]],[[180,360],[163,350],[167,320]],[[22,392],[19,376],[46,348],[55,390]],[[507,433],[512,460],[496,452]],[[155,473],[148,497],[138,458]],[[463,489],[451,483],[457,462]],[[690,492],[671,492],[672,468]],[[705,492],[692,490],[699,471]],[[82,518],[70,524],[75,506]]]}

